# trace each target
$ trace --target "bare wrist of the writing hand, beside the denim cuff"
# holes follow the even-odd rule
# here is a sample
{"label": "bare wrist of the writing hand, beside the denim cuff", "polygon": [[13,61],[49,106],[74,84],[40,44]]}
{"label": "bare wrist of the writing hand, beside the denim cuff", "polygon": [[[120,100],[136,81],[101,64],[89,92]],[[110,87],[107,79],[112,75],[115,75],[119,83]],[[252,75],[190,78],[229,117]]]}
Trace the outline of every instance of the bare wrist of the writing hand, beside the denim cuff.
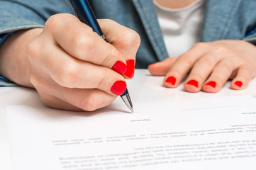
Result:
{"label": "bare wrist of the writing hand, beside the denim cuff", "polygon": [[39,28],[19,30],[0,45],[0,75],[22,86],[30,83],[30,62],[26,56],[28,44],[40,34]]}

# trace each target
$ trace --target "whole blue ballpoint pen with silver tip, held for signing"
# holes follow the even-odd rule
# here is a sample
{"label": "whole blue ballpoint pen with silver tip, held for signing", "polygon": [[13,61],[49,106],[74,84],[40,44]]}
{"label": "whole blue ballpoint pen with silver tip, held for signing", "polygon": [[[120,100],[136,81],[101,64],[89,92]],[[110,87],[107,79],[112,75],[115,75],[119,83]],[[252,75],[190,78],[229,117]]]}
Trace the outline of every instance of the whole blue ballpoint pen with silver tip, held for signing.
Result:
{"label": "whole blue ballpoint pen with silver tip, held for signing", "polygon": [[[82,23],[87,24],[87,26],[90,26],[94,30],[94,32],[96,32],[99,36],[101,36],[101,38],[106,40],[99,26],[99,23],[96,20],[96,16],[94,15],[94,12],[91,9],[91,6],[88,0],[69,0],[69,1],[72,5],[72,8],[74,9],[74,13],[77,15],[79,20]],[[121,95],[121,98],[123,99],[124,103],[126,103],[126,106],[133,113],[133,103],[130,100],[130,95],[127,89]]]}

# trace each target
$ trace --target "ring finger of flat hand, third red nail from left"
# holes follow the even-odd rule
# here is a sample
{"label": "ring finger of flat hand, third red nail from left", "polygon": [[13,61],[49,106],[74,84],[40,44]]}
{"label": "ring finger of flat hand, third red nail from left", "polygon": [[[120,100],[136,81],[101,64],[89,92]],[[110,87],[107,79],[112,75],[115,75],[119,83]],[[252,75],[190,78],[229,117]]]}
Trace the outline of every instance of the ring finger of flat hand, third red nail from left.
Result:
{"label": "ring finger of flat hand, third red nail from left", "polygon": [[220,91],[236,67],[237,66],[233,62],[227,60],[219,62],[213,69],[211,76],[206,80],[203,90],[208,93],[216,93]]}

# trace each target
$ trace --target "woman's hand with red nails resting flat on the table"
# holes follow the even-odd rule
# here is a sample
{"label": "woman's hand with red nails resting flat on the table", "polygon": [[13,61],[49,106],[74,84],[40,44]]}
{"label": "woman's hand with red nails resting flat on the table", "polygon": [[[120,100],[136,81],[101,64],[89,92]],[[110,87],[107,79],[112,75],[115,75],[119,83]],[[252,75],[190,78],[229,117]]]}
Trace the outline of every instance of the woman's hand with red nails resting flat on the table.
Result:
{"label": "woman's hand with red nails resting flat on the table", "polygon": [[232,79],[231,89],[245,89],[256,75],[256,47],[243,40],[199,42],[183,55],[148,67],[152,75],[165,75],[164,85],[174,88],[184,81],[189,92],[216,93]]}

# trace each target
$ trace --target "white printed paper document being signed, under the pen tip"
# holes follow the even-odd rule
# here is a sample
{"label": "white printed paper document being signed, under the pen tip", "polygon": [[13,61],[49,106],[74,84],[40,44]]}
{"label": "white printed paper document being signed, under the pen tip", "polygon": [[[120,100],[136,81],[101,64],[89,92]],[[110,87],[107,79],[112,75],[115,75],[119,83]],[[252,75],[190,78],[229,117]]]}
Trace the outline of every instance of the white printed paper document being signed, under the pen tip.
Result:
{"label": "white printed paper document being signed, under the pen tip", "polygon": [[256,98],[134,103],[93,113],[8,106],[13,170],[255,169]]}

